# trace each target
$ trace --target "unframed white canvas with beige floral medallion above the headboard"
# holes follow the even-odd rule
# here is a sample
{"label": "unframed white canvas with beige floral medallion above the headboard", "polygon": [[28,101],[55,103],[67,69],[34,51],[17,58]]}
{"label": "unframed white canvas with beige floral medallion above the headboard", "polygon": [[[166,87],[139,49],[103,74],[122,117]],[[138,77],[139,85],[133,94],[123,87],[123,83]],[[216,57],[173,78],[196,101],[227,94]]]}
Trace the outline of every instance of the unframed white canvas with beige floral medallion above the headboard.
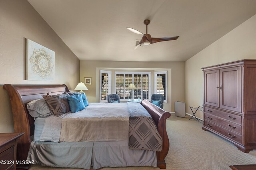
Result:
{"label": "unframed white canvas with beige floral medallion above the headboard", "polygon": [[54,81],[55,52],[27,39],[26,80]]}

